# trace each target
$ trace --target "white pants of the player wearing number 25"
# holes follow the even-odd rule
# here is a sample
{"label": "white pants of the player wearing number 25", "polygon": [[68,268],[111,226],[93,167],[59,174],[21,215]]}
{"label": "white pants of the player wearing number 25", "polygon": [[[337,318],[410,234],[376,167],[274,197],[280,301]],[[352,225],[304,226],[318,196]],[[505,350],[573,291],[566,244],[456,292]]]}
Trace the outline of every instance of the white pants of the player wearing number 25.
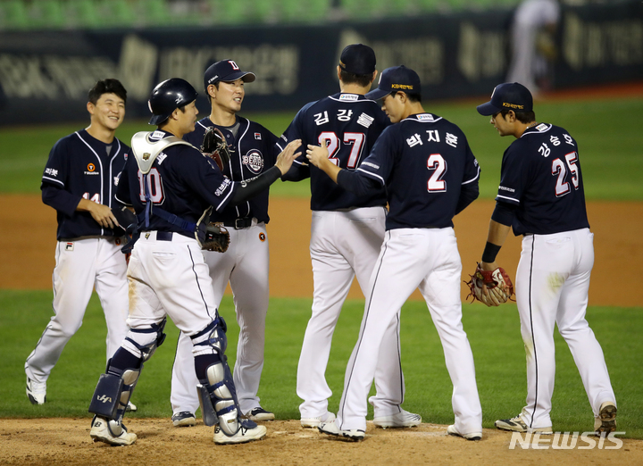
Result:
{"label": "white pants of the player wearing number 25", "polygon": [[533,429],[552,425],[555,324],[569,345],[594,415],[605,401],[616,400],[603,350],[585,320],[593,243],[589,229],[522,238],[515,289],[527,354],[527,405],[521,417]]}

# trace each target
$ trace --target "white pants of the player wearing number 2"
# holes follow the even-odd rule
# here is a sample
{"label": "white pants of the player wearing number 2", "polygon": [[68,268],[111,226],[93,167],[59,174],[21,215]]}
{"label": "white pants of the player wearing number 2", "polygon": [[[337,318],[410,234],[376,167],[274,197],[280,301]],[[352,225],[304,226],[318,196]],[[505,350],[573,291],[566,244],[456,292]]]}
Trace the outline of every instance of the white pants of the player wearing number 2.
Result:
{"label": "white pants of the player wearing number 2", "polygon": [[455,429],[462,434],[482,430],[482,410],[473,355],[462,325],[460,301],[462,262],[454,230],[393,229],[387,231],[372,272],[372,295],[366,300],[362,329],[347,365],[339,404],[339,429],[366,430],[366,397],[376,373],[387,323],[416,287],[438,329],[454,390],[451,402]]}

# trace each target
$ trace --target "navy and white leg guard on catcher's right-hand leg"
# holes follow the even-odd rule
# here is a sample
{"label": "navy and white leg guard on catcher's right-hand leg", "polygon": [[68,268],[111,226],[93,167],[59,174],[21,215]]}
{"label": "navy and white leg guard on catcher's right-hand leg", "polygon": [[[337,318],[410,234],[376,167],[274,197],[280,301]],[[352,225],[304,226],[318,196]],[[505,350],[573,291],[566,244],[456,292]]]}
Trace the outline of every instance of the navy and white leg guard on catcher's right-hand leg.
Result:
{"label": "navy and white leg guard on catcher's right-hand leg", "polygon": [[242,420],[240,417],[237,391],[227,358],[223,354],[228,343],[225,329],[225,321],[219,317],[192,337],[192,343],[204,423],[211,426],[218,421],[221,431],[232,437],[241,426],[252,429],[256,425],[251,420]]}

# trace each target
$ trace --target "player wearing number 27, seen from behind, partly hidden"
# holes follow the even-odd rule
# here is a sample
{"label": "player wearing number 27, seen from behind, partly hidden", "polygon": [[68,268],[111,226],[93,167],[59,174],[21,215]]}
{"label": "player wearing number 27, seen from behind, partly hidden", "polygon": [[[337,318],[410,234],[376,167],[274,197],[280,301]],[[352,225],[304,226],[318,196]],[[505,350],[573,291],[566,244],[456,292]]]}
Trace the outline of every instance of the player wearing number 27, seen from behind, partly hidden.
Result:
{"label": "player wearing number 27, seen from behind, partly hidden", "polygon": [[[328,159],[335,166],[354,171],[369,153],[375,140],[389,124],[379,105],[363,95],[371,88],[375,54],[363,44],[347,46],[337,68],[341,92],[305,105],[282,135],[285,142],[301,138],[305,144],[329,147]],[[280,142],[283,145],[283,142]],[[303,178],[310,170],[311,227],[310,253],[313,262],[313,311],[305,331],[297,367],[297,395],[303,427],[315,428],[335,419],[328,411],[332,395],[325,379],[333,331],[342,304],[355,276],[364,296],[384,238],[386,194],[383,187],[364,196],[355,196],[333,183],[316,167],[297,160],[288,173]],[[379,427],[413,427],[422,422],[418,414],[400,407],[405,383],[400,364],[399,313],[382,322],[386,329],[374,374],[377,395],[370,400],[374,423]],[[373,354],[375,356],[376,354]]]}

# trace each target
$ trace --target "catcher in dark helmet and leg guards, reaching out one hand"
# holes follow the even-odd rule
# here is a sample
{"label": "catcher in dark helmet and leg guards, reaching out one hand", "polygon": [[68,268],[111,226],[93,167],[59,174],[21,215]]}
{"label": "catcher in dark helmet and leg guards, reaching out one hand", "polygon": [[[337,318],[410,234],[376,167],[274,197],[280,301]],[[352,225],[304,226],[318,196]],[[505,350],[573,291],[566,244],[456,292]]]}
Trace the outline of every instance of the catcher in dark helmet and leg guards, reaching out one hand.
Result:
{"label": "catcher in dark helmet and leg guards, reaching out one hand", "polygon": [[149,99],[154,132],[132,137],[132,155],[117,199],[137,214],[138,233],[129,259],[130,330],[108,362],[89,405],[96,414],[90,436],[110,445],[131,445],[136,435],[122,425],[124,407],[143,362],[163,343],[166,316],[190,337],[205,424],[216,444],[260,439],[266,429],[244,420],[226,362],[225,321],[217,313],[212,279],[201,244],[214,209],[256,196],[290,168],[300,141],[280,154],[275,167],[246,183],[230,181],[181,137],[195,129],[196,90],[184,79],[154,87]]}

